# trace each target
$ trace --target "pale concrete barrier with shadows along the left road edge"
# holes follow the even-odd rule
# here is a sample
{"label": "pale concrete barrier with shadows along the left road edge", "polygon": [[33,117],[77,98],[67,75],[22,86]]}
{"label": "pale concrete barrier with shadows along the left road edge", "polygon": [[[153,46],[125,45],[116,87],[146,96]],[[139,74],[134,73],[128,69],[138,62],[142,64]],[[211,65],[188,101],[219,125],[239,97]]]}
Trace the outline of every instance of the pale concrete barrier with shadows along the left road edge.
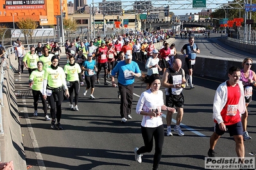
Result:
{"label": "pale concrete barrier with shadows along the left road edge", "polygon": [[12,69],[7,69],[4,73],[4,106],[1,107],[4,132],[0,136],[1,162],[13,160],[15,169],[26,169],[18,106],[14,93],[14,73]]}

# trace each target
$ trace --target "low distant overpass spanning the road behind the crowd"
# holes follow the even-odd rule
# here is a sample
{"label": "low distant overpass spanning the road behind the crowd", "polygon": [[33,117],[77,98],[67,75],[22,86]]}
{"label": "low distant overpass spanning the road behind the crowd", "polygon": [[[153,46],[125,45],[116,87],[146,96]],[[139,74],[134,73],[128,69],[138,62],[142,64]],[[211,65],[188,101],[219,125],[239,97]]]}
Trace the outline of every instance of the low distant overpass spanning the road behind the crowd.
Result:
{"label": "low distant overpass spanning the road behind the crowd", "polygon": [[172,28],[173,26],[183,25],[183,27],[207,27],[212,26],[213,22],[211,20],[189,20],[181,22],[172,22],[172,21],[146,21],[146,29],[157,27],[162,28]]}

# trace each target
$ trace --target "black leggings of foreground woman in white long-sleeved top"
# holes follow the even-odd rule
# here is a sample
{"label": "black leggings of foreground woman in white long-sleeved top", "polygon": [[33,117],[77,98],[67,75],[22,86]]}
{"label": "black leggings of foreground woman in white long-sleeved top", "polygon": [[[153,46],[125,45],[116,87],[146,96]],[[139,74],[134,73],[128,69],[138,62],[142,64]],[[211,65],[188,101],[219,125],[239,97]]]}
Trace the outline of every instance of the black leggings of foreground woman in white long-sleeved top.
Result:
{"label": "black leggings of foreground woman in white long-sleeved top", "polygon": [[145,146],[137,150],[137,154],[151,152],[153,148],[153,137],[155,139],[155,155],[153,159],[153,169],[157,169],[162,157],[162,148],[164,144],[164,125],[155,128],[141,127],[141,133]]}

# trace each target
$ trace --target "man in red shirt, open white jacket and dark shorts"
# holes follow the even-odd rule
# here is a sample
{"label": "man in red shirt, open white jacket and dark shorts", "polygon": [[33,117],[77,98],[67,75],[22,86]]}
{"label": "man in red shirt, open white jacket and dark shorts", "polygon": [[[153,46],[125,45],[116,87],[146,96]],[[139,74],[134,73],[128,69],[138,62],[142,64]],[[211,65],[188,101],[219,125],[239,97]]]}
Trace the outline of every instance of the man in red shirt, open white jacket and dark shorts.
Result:
{"label": "man in red shirt, open white jacket and dark shorts", "polygon": [[228,70],[228,81],[219,85],[213,103],[214,133],[210,137],[209,157],[215,157],[216,143],[228,129],[230,136],[234,136],[237,157],[244,158],[243,127],[240,114],[245,107],[243,83],[240,68],[232,66]]}

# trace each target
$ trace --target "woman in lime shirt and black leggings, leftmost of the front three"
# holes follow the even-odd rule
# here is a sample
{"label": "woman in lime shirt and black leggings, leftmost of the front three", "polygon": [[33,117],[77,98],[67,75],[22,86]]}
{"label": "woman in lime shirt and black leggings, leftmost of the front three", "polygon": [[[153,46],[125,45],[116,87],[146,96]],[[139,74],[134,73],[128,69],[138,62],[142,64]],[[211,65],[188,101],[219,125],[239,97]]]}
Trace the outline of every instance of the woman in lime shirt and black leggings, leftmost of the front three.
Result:
{"label": "woman in lime shirt and black leggings, leftmost of the front three", "polygon": [[37,116],[37,105],[38,105],[38,99],[39,96],[42,100],[43,110],[44,110],[44,118],[45,120],[51,120],[49,116],[47,115],[47,104],[46,100],[44,99],[42,95],[42,89],[43,89],[43,79],[44,79],[44,70],[42,61],[37,62],[37,70],[34,70],[30,74],[30,86],[32,86],[32,93],[33,93],[33,99],[34,99],[34,116]]}

